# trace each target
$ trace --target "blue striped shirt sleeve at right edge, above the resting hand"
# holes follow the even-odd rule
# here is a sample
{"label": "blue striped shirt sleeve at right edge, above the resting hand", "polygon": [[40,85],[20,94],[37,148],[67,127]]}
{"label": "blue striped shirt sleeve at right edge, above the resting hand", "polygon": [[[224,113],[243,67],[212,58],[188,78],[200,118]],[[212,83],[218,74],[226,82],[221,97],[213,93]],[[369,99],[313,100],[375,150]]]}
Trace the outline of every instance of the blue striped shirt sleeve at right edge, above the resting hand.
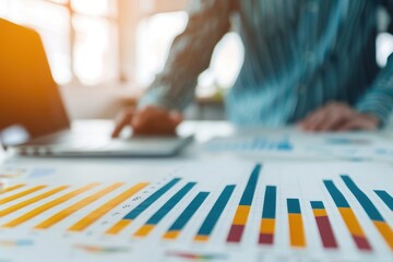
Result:
{"label": "blue striped shirt sleeve at right edge, above the resting hand", "polygon": [[[393,34],[393,0],[384,1],[391,16],[389,32]],[[360,112],[372,114],[381,121],[383,127],[393,109],[393,53],[388,59],[388,64],[381,70],[371,88],[362,96],[356,106]]]}

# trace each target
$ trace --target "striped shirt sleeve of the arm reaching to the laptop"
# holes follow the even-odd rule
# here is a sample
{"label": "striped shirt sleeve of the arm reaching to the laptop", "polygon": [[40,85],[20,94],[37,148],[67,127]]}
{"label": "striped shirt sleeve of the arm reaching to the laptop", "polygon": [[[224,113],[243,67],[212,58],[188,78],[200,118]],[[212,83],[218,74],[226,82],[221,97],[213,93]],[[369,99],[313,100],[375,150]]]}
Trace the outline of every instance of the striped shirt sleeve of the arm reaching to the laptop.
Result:
{"label": "striped shirt sleeve of the arm reaching to the laptop", "polygon": [[177,36],[164,70],[139,102],[182,110],[193,98],[198,76],[210,66],[216,44],[229,31],[231,1],[193,0],[189,22]]}

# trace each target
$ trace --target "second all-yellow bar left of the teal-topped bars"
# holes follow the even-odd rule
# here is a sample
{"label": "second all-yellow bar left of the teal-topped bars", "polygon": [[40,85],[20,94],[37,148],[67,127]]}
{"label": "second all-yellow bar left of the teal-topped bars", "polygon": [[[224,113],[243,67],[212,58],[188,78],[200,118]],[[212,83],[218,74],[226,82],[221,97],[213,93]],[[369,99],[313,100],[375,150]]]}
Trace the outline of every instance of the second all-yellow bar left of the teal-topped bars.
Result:
{"label": "second all-yellow bar left of the teal-topped bars", "polygon": [[91,203],[97,201],[98,199],[103,198],[104,195],[112,192],[114,190],[120,188],[123,183],[114,183],[83,200],[81,200],[80,202],[67,207],[66,210],[52,215],[51,217],[49,217],[48,219],[44,221],[43,223],[38,224],[37,226],[35,226],[36,229],[47,229],[51,226],[53,226],[55,224],[61,222],[62,219],[69,217],[70,215],[72,215],[73,213],[75,213],[76,211],[82,210],[83,207],[90,205]]}

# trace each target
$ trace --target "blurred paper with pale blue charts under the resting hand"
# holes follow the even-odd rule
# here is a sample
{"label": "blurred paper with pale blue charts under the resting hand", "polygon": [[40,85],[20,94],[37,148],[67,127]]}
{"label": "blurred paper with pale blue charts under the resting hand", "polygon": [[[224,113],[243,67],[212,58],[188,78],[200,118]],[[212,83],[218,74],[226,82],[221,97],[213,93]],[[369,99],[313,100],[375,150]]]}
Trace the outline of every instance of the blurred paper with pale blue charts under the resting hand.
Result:
{"label": "blurred paper with pale blue charts under the resting hand", "polygon": [[267,132],[212,139],[202,150],[257,158],[393,162],[393,141],[378,133]]}

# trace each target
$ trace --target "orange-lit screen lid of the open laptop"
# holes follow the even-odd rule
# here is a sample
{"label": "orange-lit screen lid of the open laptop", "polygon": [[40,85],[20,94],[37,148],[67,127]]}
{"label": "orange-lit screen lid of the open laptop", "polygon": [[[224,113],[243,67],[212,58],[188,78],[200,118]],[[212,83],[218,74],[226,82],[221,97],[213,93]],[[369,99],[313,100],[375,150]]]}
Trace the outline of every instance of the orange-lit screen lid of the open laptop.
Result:
{"label": "orange-lit screen lid of the open laptop", "polygon": [[23,143],[17,138],[35,139],[69,127],[39,35],[0,19],[2,144]]}

